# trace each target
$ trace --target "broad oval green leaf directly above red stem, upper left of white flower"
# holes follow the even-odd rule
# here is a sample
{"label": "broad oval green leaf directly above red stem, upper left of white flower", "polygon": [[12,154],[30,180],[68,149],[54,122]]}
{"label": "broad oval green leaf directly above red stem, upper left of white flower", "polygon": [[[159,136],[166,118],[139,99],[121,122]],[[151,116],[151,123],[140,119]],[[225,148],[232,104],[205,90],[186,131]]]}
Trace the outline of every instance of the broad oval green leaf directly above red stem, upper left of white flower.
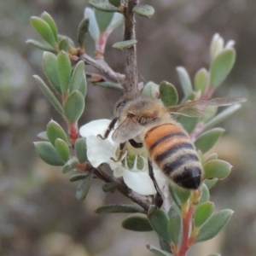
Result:
{"label": "broad oval green leaf directly above red stem, upper left of white flower", "polygon": [[84,113],[84,96],[78,90],[73,91],[64,105],[64,113],[71,124],[75,124]]}

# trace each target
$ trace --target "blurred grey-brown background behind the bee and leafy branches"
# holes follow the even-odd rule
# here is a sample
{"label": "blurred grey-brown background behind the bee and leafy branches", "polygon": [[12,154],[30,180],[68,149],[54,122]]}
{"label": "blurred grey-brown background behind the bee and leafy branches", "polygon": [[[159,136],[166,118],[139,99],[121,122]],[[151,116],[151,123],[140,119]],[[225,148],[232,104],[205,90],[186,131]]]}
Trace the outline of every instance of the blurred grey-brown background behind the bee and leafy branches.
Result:
{"label": "blurred grey-brown background behind the bee and leafy branches", "polygon": [[[148,20],[137,17],[139,79],[180,87],[175,67],[193,78],[208,67],[209,44],[215,32],[236,41],[236,66],[215,96],[244,96],[247,102],[222,124],[224,137],[213,148],[234,166],[230,177],[212,189],[217,209],[235,210],[224,231],[198,244],[189,255],[256,254],[256,4],[254,0],[141,1],[154,6]],[[63,120],[49,106],[32,74],[45,79],[43,52],[25,44],[39,39],[30,26],[32,15],[45,10],[61,34],[76,41],[85,0],[9,0],[0,2],[0,255],[8,256],[150,256],[145,245],[158,246],[153,233],[121,228],[125,214],[100,216],[96,207],[129,203],[122,195],[106,195],[102,182],[93,183],[86,201],[77,201],[77,183],[70,174],[46,165],[32,142],[45,131],[49,119]],[[122,53],[111,49],[121,40],[119,27],[109,39],[106,61],[123,71]],[[94,53],[87,39],[88,50]],[[86,110],[80,125],[91,119],[112,118],[120,93],[89,84]],[[64,124],[63,124],[64,125]]]}

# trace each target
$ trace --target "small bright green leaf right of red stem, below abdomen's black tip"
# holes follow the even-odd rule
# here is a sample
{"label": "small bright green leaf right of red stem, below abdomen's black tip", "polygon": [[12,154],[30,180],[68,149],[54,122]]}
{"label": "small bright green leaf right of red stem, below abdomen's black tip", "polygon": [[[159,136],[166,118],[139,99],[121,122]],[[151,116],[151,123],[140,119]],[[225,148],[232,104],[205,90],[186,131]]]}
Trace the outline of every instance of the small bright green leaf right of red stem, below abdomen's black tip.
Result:
{"label": "small bright green leaf right of red stem, below abdomen's black tip", "polygon": [[214,211],[214,204],[211,201],[206,201],[196,207],[194,214],[195,226],[200,227],[204,224]]}

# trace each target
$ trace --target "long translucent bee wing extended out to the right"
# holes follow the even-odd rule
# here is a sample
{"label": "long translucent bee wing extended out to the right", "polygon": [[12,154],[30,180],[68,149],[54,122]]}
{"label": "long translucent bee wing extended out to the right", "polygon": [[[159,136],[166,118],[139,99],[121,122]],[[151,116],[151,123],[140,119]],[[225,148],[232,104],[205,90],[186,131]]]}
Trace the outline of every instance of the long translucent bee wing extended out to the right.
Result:
{"label": "long translucent bee wing extended out to the right", "polygon": [[199,100],[194,102],[185,102],[167,108],[169,113],[180,113],[189,117],[201,117],[205,108],[208,106],[220,107],[229,106],[236,103],[246,102],[247,100],[239,97],[213,98],[210,100]]}

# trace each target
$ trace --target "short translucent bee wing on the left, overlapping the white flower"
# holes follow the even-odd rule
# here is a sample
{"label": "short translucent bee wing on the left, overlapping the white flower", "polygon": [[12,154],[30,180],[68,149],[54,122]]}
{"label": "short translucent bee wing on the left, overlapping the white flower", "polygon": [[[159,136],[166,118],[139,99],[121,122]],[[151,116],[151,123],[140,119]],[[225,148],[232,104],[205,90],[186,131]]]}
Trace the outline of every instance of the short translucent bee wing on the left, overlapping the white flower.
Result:
{"label": "short translucent bee wing on the left, overlapping the white flower", "polygon": [[113,131],[112,139],[115,143],[125,143],[131,138],[137,137],[143,131],[143,125],[139,125],[132,119],[126,118],[116,129]]}

